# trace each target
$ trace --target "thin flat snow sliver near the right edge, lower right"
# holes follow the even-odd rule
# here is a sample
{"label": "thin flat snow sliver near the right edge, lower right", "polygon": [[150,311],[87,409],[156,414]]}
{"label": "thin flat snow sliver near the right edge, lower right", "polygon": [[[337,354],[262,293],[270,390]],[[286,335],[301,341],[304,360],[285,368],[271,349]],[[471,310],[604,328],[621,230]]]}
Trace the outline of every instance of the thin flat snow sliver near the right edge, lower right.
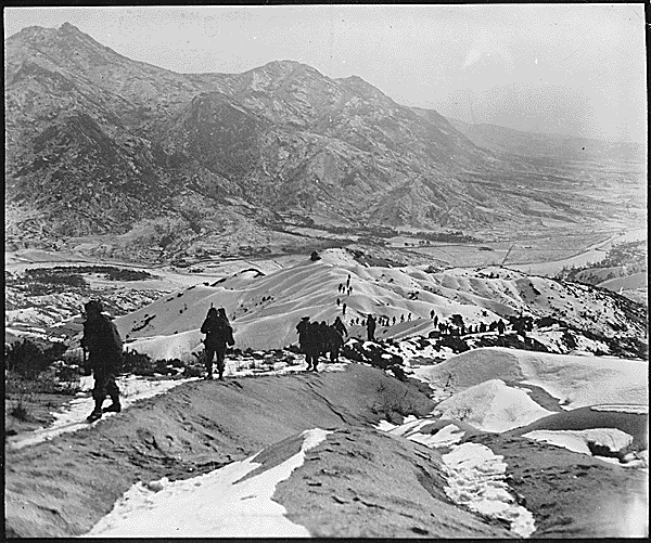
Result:
{"label": "thin flat snow sliver near the right edge, lower right", "polygon": [[591,455],[588,441],[618,452],[633,443],[633,436],[617,428],[589,428],[586,430],[534,430],[523,437],[544,441],[570,451]]}

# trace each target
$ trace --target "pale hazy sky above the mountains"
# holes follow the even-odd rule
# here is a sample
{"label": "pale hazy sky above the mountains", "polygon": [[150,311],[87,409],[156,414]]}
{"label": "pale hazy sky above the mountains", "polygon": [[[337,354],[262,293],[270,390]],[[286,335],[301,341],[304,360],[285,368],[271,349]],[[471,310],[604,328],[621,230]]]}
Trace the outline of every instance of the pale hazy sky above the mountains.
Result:
{"label": "pale hazy sky above the mountains", "polygon": [[295,60],[470,122],[647,139],[643,4],[5,9],[178,73]]}

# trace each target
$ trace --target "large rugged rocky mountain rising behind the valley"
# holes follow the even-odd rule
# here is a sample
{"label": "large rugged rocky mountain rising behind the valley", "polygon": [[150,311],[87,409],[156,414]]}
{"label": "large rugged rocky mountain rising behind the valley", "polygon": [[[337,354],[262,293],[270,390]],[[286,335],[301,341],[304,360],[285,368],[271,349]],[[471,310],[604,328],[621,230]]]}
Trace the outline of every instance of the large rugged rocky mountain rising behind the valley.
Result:
{"label": "large rugged rocky mountain rising behind the valley", "polygon": [[293,61],[175,74],[67,23],[5,40],[5,133],[14,248],[104,235],[116,256],[168,258],[197,240],[295,246],[290,217],[462,229],[524,224],[558,199],[514,193],[506,172],[526,161],[359,77]]}

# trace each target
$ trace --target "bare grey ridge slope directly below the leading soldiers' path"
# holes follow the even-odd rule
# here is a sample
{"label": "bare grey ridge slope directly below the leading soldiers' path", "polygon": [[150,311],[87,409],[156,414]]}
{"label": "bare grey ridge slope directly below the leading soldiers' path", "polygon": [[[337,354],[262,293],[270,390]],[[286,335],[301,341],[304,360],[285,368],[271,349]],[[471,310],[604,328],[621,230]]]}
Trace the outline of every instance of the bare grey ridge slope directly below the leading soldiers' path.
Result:
{"label": "bare grey ridge slope directly below the leading soldiers' path", "polygon": [[383,395],[405,392],[419,414],[432,410],[416,387],[358,364],[181,385],[92,428],[8,450],[7,535],[82,534],[139,480],[200,475],[305,429],[368,426],[384,417]]}

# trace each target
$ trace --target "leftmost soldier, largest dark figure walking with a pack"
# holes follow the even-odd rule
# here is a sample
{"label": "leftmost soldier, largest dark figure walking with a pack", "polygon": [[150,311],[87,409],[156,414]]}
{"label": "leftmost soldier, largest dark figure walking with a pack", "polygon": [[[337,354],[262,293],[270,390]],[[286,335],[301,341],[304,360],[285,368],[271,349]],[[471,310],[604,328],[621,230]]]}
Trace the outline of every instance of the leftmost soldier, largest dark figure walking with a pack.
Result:
{"label": "leftmost soldier, largest dark figure walking with a pack", "polygon": [[[115,377],[122,365],[123,342],[117,327],[111,318],[103,314],[102,302],[91,300],[86,306],[86,322],[84,323],[84,337],[81,347],[89,352],[88,362],[93,372],[94,387],[92,398],[95,405],[87,421],[92,423],[102,417],[102,413],[119,413],[119,389],[115,384]],[[102,403],[111,397],[113,403],[102,410]]]}

